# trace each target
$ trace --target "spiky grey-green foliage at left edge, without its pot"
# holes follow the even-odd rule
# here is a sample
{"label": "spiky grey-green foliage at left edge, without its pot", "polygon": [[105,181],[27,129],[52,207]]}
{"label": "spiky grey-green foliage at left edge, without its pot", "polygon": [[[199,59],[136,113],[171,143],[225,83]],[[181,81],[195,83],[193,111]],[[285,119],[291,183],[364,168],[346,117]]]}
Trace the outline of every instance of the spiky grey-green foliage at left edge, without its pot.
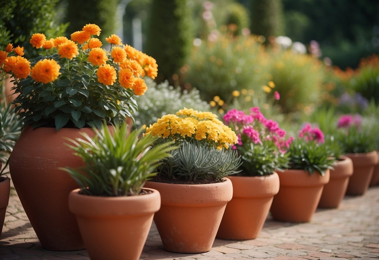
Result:
{"label": "spiky grey-green foliage at left edge, without its pot", "polygon": [[0,160],[3,163],[0,175],[5,174],[3,171],[9,163],[9,154],[19,139],[22,125],[22,119],[11,104],[0,103]]}

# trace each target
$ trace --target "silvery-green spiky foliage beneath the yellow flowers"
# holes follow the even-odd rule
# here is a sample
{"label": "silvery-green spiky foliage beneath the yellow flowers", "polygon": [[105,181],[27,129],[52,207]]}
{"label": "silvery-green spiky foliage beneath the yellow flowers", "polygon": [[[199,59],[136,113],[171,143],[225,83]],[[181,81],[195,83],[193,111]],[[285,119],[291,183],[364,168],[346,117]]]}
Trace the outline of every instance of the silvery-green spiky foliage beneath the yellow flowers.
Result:
{"label": "silvery-green spiky foliage beneath the yellow flowers", "polygon": [[236,150],[207,146],[197,141],[184,141],[178,150],[171,151],[160,169],[160,176],[195,181],[221,180],[235,174],[241,165]]}

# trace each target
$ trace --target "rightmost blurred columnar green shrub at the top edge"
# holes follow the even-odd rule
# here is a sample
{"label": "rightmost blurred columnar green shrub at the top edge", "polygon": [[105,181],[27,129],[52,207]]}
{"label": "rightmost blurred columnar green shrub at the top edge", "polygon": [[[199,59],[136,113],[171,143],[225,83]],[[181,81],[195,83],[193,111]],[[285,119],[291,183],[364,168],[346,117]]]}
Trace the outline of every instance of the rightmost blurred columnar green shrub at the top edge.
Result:
{"label": "rightmost blurred columnar green shrub at the top edge", "polygon": [[269,36],[283,35],[282,0],[251,0],[251,26],[253,34]]}

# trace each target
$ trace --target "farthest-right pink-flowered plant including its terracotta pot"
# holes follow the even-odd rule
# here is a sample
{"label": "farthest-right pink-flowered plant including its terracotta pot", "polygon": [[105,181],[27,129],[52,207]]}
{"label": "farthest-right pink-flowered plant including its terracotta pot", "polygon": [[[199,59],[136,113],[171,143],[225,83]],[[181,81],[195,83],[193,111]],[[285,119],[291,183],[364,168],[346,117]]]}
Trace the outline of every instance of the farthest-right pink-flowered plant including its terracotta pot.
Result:
{"label": "farthest-right pink-flowered plant including its terracotta pot", "polygon": [[338,119],[338,141],[346,157],[353,162],[353,174],[349,179],[346,194],[363,195],[370,186],[374,166],[377,163],[375,151],[377,128],[362,124],[362,117],[346,114]]}

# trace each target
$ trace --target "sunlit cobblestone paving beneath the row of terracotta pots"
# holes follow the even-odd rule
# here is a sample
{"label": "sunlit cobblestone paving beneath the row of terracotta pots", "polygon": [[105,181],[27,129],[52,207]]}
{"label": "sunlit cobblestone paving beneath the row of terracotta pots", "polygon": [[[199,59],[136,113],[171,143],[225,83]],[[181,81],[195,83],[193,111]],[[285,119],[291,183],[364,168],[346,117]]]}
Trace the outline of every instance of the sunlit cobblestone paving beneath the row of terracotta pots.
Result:
{"label": "sunlit cobblestone paving beneath the row of terracotta pots", "polygon": [[[216,239],[203,254],[175,254],[163,249],[154,224],[141,260],[335,260],[379,258],[379,186],[363,196],[346,196],[338,209],[318,209],[312,221],[277,222],[268,216],[259,237],[233,241]],[[0,259],[89,259],[86,250],[56,252],[42,249],[16,191],[11,191],[0,241]],[[106,259],[105,259],[106,260]]]}

